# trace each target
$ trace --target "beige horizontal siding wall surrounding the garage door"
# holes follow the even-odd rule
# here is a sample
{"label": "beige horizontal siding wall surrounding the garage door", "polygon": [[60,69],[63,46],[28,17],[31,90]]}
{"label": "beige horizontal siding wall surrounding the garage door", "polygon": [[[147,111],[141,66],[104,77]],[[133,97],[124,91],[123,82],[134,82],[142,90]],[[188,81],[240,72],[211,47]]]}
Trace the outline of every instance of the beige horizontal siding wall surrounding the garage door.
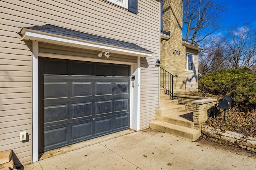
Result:
{"label": "beige horizontal siding wall surrounding the garage door", "polygon": [[[138,15],[105,0],[3,0],[0,11],[0,151],[13,149],[20,163],[31,161],[32,53],[31,43],[21,41],[18,35],[22,27],[50,23],[136,43],[152,51],[153,57],[141,60],[140,127],[148,127],[148,122],[155,119],[159,2],[138,0]],[[28,142],[19,141],[20,131],[27,131]]]}

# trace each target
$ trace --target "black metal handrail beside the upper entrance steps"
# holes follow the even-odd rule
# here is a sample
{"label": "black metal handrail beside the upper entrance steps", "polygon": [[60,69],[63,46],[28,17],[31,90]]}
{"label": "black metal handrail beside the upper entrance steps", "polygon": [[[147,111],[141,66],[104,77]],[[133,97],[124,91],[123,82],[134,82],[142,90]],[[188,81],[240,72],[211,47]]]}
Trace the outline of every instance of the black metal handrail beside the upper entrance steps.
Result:
{"label": "black metal handrail beside the upper entrance steps", "polygon": [[173,78],[175,77],[170,72],[160,67],[160,86],[166,90],[166,94],[170,94],[173,99]]}

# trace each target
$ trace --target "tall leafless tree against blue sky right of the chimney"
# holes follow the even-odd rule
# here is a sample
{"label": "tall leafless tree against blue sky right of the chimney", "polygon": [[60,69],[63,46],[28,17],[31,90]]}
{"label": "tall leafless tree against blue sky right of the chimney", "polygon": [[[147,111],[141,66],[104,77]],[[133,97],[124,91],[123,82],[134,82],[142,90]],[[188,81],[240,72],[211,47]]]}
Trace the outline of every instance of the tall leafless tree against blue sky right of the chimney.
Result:
{"label": "tall leafless tree against blue sky right of the chimney", "polygon": [[220,28],[218,22],[223,9],[212,0],[183,0],[183,22],[186,24],[185,39],[195,44],[204,41],[207,36]]}

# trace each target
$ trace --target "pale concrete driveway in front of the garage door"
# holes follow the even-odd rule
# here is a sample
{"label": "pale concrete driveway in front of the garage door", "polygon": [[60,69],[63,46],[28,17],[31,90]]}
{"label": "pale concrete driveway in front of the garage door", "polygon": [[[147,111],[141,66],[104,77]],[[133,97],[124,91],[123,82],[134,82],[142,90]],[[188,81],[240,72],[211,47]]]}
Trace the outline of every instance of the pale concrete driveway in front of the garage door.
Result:
{"label": "pale concrete driveway in front of the garage door", "polygon": [[[67,150],[70,150],[67,152]],[[79,148],[80,147],[80,148]],[[66,151],[65,151],[66,150]],[[61,153],[62,152],[62,153]],[[61,154],[57,154],[61,153]],[[47,155],[51,156],[46,158]],[[55,155],[55,156],[54,156]],[[44,158],[44,159],[42,159]],[[146,129],[46,152],[25,170],[255,170],[256,155]]]}

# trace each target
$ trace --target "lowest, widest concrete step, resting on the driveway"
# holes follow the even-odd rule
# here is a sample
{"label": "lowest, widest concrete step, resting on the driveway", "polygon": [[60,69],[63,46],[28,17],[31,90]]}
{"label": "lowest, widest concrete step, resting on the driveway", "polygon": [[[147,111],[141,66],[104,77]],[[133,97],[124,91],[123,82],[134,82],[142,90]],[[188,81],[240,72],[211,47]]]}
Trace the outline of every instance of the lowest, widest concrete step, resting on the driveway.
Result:
{"label": "lowest, widest concrete step, resting on the driveway", "polygon": [[151,121],[149,123],[149,127],[158,131],[170,133],[172,135],[188,139],[190,141],[196,141],[200,137],[200,132],[196,129],[182,127],[164,121]]}

